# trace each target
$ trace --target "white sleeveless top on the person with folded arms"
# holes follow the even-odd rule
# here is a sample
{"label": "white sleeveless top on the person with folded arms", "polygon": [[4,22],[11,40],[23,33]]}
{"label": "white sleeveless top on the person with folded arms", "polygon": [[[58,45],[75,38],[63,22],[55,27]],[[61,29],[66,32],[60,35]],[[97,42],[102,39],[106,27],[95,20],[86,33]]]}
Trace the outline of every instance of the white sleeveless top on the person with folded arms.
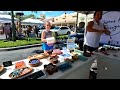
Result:
{"label": "white sleeveless top on the person with folded arms", "polygon": [[[93,29],[97,29],[97,30],[103,30],[104,29],[104,25],[100,22],[99,25],[98,23],[93,20],[94,24],[93,24]],[[99,41],[100,41],[100,36],[101,34],[98,32],[88,32],[85,35],[85,39],[84,39],[84,44],[88,45],[90,47],[98,47],[99,46]]]}

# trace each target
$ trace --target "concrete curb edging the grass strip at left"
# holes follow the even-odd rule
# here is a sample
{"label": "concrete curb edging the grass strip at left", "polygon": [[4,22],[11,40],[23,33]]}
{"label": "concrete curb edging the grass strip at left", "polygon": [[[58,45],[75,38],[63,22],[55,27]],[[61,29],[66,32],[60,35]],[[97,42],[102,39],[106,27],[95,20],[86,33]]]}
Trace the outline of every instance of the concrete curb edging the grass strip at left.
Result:
{"label": "concrete curb edging the grass strip at left", "polygon": [[42,44],[34,44],[34,45],[26,45],[26,46],[19,46],[19,47],[11,47],[11,48],[0,48],[0,51],[10,51],[10,50],[18,50],[18,49],[25,49],[25,48],[31,48],[31,47],[38,47]]}

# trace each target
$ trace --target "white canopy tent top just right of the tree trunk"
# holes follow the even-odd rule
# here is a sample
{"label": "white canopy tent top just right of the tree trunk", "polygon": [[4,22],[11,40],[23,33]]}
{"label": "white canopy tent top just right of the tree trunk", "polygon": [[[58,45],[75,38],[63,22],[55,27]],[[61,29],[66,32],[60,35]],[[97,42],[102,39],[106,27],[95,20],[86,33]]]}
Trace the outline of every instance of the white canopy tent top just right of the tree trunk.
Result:
{"label": "white canopy tent top just right of the tree trunk", "polygon": [[21,21],[21,25],[43,25],[44,22],[40,21],[39,19],[32,19],[28,18]]}

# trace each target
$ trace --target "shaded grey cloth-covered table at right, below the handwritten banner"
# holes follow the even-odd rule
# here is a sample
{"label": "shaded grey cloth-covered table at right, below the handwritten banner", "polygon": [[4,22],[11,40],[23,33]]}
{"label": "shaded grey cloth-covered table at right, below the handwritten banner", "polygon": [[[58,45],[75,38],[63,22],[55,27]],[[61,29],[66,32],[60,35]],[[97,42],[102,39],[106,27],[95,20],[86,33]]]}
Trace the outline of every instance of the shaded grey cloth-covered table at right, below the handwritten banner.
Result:
{"label": "shaded grey cloth-covered table at right, below the handwritten banner", "polygon": [[97,79],[120,79],[120,51],[108,51],[108,53],[110,55],[95,52]]}

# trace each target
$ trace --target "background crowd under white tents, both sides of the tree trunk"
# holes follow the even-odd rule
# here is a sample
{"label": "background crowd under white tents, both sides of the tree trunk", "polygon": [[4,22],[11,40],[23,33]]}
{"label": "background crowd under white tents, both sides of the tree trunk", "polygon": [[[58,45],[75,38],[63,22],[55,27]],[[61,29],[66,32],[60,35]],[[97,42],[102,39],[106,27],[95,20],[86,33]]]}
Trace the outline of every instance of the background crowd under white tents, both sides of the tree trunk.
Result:
{"label": "background crowd under white tents, both sides of the tree trunk", "polygon": [[[16,37],[30,37],[30,33],[33,33],[35,37],[39,37],[38,32],[39,28],[37,25],[27,25],[25,28],[22,26],[20,27],[18,23],[15,25],[15,32],[16,32]],[[4,23],[1,24],[0,26],[0,34],[5,35],[6,39],[11,39],[12,38],[12,25],[11,23]]]}

